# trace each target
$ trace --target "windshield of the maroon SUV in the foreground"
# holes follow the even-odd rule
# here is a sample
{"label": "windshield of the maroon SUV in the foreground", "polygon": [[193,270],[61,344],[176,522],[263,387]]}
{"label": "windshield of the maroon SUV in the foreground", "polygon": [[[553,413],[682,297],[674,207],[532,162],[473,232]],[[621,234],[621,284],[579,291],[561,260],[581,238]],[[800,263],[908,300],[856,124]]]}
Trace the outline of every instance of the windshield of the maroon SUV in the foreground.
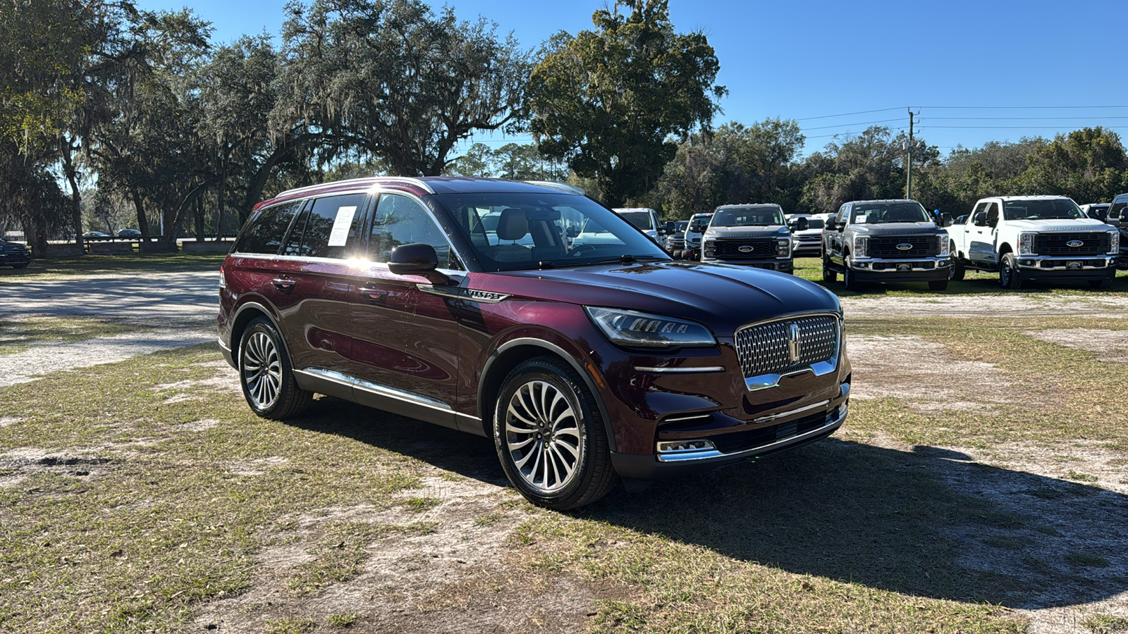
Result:
{"label": "windshield of the maroon SUV in the foreground", "polygon": [[456,220],[486,271],[670,258],[618,214],[575,194],[465,193],[433,200]]}

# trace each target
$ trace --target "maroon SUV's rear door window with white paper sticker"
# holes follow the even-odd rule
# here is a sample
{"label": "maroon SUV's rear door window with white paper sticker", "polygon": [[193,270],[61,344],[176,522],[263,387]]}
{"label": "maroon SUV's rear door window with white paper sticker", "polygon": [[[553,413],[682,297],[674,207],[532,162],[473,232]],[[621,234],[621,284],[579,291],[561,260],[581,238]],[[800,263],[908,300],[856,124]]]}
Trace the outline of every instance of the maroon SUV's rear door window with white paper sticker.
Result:
{"label": "maroon SUV's rear door window with white paper sticker", "polygon": [[346,258],[360,239],[361,218],[368,194],[325,196],[298,219],[285,255]]}

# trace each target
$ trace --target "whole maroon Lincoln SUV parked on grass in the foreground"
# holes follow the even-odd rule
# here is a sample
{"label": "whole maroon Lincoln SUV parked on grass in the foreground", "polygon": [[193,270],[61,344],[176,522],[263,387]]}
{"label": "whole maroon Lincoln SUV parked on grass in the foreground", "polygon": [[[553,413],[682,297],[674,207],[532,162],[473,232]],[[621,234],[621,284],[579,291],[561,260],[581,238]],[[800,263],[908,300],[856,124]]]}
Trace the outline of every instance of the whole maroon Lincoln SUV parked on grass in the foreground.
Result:
{"label": "whole maroon Lincoln SUV parked on grass in the foreground", "polygon": [[363,178],[259,203],[220,344],[261,416],[315,393],[493,438],[556,509],[832,433],[841,308],[770,271],[676,262],[571,187]]}

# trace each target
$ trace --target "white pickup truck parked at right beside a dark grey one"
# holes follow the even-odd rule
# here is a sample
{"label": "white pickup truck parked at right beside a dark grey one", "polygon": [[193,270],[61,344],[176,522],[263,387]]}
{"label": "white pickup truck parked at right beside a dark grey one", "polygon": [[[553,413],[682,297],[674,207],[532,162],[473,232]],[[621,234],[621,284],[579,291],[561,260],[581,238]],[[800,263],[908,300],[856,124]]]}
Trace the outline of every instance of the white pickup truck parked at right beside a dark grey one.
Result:
{"label": "white pickup truck parked at right beside a dark grey one", "polygon": [[1005,289],[1024,281],[1087,280],[1108,287],[1117,274],[1120,235],[1086,218],[1065,196],[994,196],[976,203],[967,222],[948,228],[952,279],[968,268],[997,271]]}

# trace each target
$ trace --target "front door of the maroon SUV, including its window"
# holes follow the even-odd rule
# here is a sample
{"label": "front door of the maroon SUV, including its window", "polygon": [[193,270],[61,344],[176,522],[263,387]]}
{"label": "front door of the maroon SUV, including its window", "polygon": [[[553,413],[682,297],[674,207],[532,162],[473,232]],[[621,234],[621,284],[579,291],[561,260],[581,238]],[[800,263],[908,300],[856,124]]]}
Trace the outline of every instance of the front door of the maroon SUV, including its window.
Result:
{"label": "front door of the maroon SUV, including its window", "polygon": [[[461,270],[447,237],[423,204],[403,194],[381,194],[372,214],[368,257],[356,281],[352,311],[352,367],[367,381],[369,404],[455,426],[458,323],[453,301],[426,292],[431,282],[388,270],[391,250],[424,243],[439,267]],[[358,398],[364,400],[362,394]],[[397,408],[397,402],[404,404]],[[448,422],[449,421],[449,422]]]}

